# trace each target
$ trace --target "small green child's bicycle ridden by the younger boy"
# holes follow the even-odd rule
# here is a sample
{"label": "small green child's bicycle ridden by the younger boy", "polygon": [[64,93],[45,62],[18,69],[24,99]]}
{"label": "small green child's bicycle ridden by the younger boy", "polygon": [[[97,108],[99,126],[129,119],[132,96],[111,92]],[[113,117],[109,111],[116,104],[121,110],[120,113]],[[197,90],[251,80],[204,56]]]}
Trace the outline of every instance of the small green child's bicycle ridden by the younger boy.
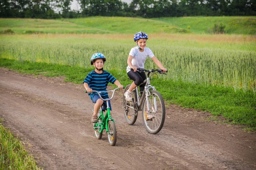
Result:
{"label": "small green child's bicycle ridden by the younger boy", "polygon": [[[97,93],[103,101],[107,102],[107,113],[104,116],[102,107],[101,107],[99,110],[99,113],[98,113],[98,122],[93,123],[95,137],[96,137],[96,139],[101,139],[103,130],[106,129],[106,133],[108,135],[108,142],[111,146],[116,145],[117,132],[116,132],[115,121],[111,117],[111,114],[110,114],[110,108],[108,105],[108,101],[113,98],[114,93],[117,89],[119,89],[119,88],[115,88],[114,90],[111,90],[111,91],[92,91],[92,93]],[[112,96],[110,99],[103,99],[102,96],[100,95],[100,93],[103,93],[103,92],[113,92],[113,93],[112,93]],[[87,91],[85,91],[85,93],[87,93]]]}

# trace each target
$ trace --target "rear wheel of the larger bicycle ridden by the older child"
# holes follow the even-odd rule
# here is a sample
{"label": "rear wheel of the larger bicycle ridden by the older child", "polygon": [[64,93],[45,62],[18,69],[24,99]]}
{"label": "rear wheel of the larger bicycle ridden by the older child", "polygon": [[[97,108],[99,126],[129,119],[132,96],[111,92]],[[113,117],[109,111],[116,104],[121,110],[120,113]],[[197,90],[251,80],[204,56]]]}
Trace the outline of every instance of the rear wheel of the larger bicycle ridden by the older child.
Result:
{"label": "rear wheel of the larger bicycle ridden by the older child", "polygon": [[[125,87],[124,94],[130,88],[130,86],[131,86],[131,84],[129,84]],[[136,94],[135,90],[132,92],[132,98],[134,98],[134,104],[137,107],[137,94]],[[125,100],[125,95],[123,95],[123,109],[124,109],[124,114],[125,114],[125,121],[129,125],[133,125],[137,120],[138,113],[136,113],[136,111],[133,108],[129,108],[128,105],[133,105],[133,103],[127,102]]]}

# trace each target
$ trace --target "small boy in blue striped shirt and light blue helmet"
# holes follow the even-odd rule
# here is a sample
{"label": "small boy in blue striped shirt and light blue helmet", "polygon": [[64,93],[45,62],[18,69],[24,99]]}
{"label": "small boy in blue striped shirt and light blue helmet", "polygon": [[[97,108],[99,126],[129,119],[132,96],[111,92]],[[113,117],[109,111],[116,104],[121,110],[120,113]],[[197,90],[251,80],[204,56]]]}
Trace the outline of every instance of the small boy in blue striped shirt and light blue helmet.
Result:
{"label": "small boy in blue striped shirt and light blue helmet", "polygon": [[[98,122],[97,113],[99,109],[101,108],[103,102],[105,103],[104,108],[102,110],[107,110],[107,102],[103,101],[99,98],[99,95],[96,93],[92,93],[92,91],[107,91],[108,82],[111,82],[112,84],[117,85],[120,89],[123,88],[123,85],[120,84],[120,82],[114,78],[108,71],[103,70],[103,65],[106,61],[106,58],[101,53],[95,53],[92,55],[90,62],[91,65],[95,67],[93,71],[91,71],[87,77],[84,79],[84,88],[87,91],[88,95],[90,96],[90,99],[95,103],[94,105],[94,112],[92,117],[92,122],[96,123]],[[108,92],[101,93],[101,96],[103,99],[108,99]],[[111,117],[112,117],[112,108],[110,101],[108,101]]]}

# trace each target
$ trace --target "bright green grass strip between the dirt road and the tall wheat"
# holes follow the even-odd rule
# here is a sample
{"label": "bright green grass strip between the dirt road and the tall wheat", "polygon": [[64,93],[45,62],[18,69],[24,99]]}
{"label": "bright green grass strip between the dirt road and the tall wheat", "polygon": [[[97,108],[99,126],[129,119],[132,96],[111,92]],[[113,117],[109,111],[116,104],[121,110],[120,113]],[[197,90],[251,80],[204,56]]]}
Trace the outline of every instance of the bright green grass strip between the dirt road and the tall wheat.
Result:
{"label": "bright green grass strip between the dirt road and the tall wheat", "polygon": [[[9,68],[21,74],[44,75],[47,77],[65,76],[64,81],[82,83],[92,68],[47,64],[0,58],[0,67]],[[123,85],[131,83],[125,71],[108,70]],[[184,108],[195,108],[221,115],[227,123],[244,125],[247,131],[256,130],[256,94],[253,91],[234,91],[233,88],[213,85],[198,85],[182,81],[157,79],[151,81],[166,104],[177,104]]]}

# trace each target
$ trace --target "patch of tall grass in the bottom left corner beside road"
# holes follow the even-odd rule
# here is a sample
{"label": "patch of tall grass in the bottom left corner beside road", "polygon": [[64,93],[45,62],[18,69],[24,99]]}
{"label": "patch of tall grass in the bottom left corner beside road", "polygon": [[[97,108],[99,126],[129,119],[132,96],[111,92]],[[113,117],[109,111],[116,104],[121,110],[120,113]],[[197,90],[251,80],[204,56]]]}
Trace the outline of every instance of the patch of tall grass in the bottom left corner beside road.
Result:
{"label": "patch of tall grass in the bottom left corner beside road", "polygon": [[25,146],[15,138],[9,129],[0,123],[0,169],[1,170],[42,170],[36,165]]}

